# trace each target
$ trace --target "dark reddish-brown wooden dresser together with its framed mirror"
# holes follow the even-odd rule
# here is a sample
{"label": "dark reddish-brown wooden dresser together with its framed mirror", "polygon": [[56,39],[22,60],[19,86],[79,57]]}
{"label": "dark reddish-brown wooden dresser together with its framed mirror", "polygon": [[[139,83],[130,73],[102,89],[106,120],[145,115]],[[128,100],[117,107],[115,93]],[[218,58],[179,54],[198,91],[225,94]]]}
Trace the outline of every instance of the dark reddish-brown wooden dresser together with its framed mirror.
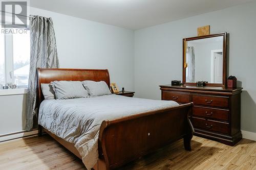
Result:
{"label": "dark reddish-brown wooden dresser together with its framed mirror", "polygon": [[[193,102],[195,135],[228,145],[241,138],[242,88],[227,88],[227,33],[183,39],[181,86],[160,85],[162,100]],[[205,86],[196,86],[205,81]],[[200,84],[200,83],[198,83]]]}

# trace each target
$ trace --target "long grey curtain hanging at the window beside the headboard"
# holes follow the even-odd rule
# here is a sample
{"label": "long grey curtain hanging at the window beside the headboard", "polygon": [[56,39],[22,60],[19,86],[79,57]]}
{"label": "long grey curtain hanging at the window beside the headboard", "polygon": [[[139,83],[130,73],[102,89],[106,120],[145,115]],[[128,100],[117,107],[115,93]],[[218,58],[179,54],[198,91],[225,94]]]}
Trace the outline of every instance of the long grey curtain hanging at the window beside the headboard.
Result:
{"label": "long grey curtain hanging at the window beside the headboard", "polygon": [[[26,130],[33,128],[38,82],[37,67],[58,68],[58,54],[52,18],[35,16],[30,18],[30,72],[27,94]],[[37,124],[37,123],[36,123]]]}

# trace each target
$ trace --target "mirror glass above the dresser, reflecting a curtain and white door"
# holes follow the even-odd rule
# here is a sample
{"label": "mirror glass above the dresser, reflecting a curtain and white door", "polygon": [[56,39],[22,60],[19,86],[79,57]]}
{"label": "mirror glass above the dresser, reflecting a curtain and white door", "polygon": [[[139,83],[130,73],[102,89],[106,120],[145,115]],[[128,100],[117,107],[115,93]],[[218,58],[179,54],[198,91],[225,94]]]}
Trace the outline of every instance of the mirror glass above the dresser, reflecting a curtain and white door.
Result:
{"label": "mirror glass above the dresser, reflecting a curtain and white door", "polygon": [[186,44],[186,82],[222,84],[223,36],[189,40]]}

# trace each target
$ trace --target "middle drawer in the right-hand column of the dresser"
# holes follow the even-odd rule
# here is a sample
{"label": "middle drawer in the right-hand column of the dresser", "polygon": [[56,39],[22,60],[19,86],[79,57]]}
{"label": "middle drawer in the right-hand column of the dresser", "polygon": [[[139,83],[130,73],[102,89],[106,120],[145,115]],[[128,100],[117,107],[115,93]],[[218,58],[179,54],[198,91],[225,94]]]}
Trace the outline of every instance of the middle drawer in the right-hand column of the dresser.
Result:
{"label": "middle drawer in the right-hand column of the dresser", "polygon": [[212,108],[198,107],[198,106],[193,107],[193,115],[200,116],[200,117],[228,121],[228,113],[229,113],[228,110],[212,109]]}

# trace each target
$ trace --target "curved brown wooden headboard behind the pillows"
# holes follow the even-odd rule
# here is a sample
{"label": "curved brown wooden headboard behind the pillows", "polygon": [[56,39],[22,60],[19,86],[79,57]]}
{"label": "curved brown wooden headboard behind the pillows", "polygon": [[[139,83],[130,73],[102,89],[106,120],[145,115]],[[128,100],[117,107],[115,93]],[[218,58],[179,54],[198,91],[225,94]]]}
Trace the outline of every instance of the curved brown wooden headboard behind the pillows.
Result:
{"label": "curved brown wooden headboard behind the pillows", "polygon": [[[41,91],[41,83],[52,81],[104,81],[110,87],[110,75],[108,69],[74,69],[74,68],[37,68],[38,75],[38,103],[44,100]],[[38,105],[38,106],[39,106]]]}

